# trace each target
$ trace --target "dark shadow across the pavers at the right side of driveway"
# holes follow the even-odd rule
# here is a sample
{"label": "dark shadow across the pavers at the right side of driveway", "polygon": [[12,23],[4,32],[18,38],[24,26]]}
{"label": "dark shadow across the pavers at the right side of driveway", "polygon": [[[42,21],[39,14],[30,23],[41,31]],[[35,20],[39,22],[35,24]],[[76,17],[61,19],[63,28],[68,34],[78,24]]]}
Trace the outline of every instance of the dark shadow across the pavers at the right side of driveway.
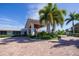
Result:
{"label": "dark shadow across the pavers at the right side of driveway", "polygon": [[52,46],[53,47],[65,47],[65,46],[70,46],[70,45],[74,45],[76,48],[79,48],[79,39],[74,40],[74,39],[70,39],[70,40],[64,40],[64,39],[60,39],[58,44]]}

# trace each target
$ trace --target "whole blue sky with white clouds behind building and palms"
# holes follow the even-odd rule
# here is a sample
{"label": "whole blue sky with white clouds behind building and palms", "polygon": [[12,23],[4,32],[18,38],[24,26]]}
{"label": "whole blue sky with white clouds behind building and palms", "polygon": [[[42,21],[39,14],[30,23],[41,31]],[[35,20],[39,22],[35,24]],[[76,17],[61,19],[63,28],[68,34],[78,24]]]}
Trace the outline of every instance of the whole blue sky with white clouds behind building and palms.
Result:
{"label": "whole blue sky with white clouds behind building and palms", "polygon": [[[22,29],[28,18],[39,19],[38,11],[43,8],[46,4],[15,4],[15,3],[0,3],[0,29]],[[70,12],[79,12],[79,4],[57,4],[59,9],[65,9],[68,17]],[[75,22],[76,23],[76,22]],[[66,26],[64,24],[63,29],[70,28],[71,23]],[[60,27],[56,27],[60,29]]]}

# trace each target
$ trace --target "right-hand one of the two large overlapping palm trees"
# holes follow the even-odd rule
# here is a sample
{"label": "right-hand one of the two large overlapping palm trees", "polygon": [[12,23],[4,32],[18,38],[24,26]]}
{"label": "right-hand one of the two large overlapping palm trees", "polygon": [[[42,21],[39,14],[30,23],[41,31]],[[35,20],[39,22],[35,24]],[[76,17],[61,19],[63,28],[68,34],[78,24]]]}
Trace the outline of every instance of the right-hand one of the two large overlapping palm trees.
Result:
{"label": "right-hand one of the two large overlapping palm trees", "polygon": [[53,29],[55,30],[56,25],[61,25],[61,27],[64,24],[64,16],[66,15],[66,11],[63,9],[58,9],[57,4],[54,4],[54,8],[52,9],[52,16],[53,16]]}

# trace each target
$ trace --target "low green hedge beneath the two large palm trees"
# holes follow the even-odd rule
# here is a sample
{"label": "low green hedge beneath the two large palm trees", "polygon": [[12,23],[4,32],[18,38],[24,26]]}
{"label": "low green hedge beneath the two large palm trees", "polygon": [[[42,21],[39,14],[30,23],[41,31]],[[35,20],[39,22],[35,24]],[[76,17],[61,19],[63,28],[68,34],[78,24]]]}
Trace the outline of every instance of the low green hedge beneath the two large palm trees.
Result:
{"label": "low green hedge beneath the two large palm trees", "polygon": [[56,32],[52,33],[47,33],[47,32],[39,32],[37,35],[30,36],[31,38],[37,38],[37,39],[52,39],[52,38],[57,38],[59,35],[64,35],[65,31],[58,30]]}

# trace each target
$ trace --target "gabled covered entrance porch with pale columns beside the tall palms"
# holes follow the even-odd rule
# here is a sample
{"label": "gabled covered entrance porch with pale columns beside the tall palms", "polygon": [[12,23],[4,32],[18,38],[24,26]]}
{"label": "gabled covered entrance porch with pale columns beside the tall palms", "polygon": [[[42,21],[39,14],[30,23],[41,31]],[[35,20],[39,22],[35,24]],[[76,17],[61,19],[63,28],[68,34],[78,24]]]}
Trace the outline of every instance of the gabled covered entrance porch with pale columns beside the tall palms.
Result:
{"label": "gabled covered entrance porch with pale columns beside the tall palms", "polygon": [[39,28],[41,28],[39,20],[28,19],[25,25],[26,31],[24,32],[26,32],[27,35],[35,35],[39,32]]}

